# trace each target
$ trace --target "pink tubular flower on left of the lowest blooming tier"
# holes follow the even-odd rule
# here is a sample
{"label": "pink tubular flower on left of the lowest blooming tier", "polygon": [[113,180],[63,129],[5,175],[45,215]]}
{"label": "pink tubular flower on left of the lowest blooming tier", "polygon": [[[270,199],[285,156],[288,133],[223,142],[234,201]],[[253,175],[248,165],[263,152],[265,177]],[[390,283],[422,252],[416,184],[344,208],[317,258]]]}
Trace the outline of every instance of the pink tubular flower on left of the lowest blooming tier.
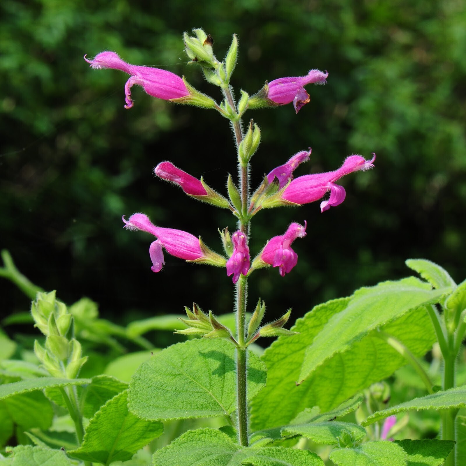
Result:
{"label": "pink tubular flower on left of the lowest blooming tier", "polygon": [[153,264],[151,270],[153,272],[160,272],[165,263],[162,247],[172,256],[184,260],[196,260],[204,257],[199,244],[199,238],[196,238],[191,233],[155,226],[144,213],[134,213],[128,220],[125,220],[123,215],[123,222],[126,224],[124,228],[128,230],[142,230],[158,238],[149,248]]}

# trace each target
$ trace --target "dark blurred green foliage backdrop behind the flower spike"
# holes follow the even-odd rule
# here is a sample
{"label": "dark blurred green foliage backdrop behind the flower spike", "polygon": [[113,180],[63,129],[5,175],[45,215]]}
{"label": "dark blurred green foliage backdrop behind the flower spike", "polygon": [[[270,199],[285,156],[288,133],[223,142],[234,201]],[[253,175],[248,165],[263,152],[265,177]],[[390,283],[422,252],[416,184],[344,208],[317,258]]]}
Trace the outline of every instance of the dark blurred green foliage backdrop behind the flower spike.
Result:
{"label": "dark blurred green foliage backdrop behind the flower spike", "polygon": [[[311,161],[296,176],[377,153],[375,169],[342,180],[341,206],[254,217],[252,254],[292,221],[307,220],[308,235],[294,244],[291,274],[252,275],[250,307],[261,296],[269,316],[292,306],[297,318],[355,288],[408,275],[409,257],[465,278],[464,1],[3,0],[0,17],[0,247],[65,302],[89,296],[115,322],[178,314],[193,301],[217,314],[233,309],[224,271],[167,254],[153,274],[152,237],[123,230],[121,221],[144,212],[220,252],[217,228],[234,231],[233,216],[188,199],[152,169],[170,160],[224,192],[236,172],[228,122],[137,87],[125,110],[128,76],[89,69],[82,59],[113,50],[130,63],[185,74],[219,101],[218,88],[186,65],[181,34],[193,27],[212,34],[219,58],[238,34],[236,95],[281,76],[329,71],[326,86],[308,86],[311,103],[298,115],[291,104],[247,112],[262,130],[253,185],[309,146]],[[0,292],[3,315],[27,310],[11,283],[0,281]]]}

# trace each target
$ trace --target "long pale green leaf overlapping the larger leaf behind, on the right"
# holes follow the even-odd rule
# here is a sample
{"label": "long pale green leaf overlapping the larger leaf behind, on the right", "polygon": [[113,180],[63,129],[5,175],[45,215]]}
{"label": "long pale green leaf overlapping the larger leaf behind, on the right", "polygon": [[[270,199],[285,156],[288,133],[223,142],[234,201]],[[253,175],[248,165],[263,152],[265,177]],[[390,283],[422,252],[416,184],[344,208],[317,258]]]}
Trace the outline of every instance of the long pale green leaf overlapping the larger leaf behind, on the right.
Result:
{"label": "long pale green leaf overlapping the larger leaf behind, on the right", "polygon": [[432,290],[415,277],[360,288],[348,306],[332,316],[306,350],[299,380],[304,380],[336,353],[343,353],[377,329],[423,304],[436,302],[446,290]]}

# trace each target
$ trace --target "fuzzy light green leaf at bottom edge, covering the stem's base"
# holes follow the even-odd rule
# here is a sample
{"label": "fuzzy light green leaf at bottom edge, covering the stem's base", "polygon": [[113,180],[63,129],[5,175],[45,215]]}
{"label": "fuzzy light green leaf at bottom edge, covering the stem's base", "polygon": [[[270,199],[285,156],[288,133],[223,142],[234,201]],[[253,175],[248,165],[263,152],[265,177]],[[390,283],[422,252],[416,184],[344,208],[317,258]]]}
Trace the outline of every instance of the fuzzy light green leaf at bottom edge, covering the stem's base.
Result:
{"label": "fuzzy light green leaf at bottom edge, covering the stem's base", "polygon": [[185,432],[156,451],[154,466],[323,466],[307,450],[283,447],[243,448],[225,433],[206,428]]}

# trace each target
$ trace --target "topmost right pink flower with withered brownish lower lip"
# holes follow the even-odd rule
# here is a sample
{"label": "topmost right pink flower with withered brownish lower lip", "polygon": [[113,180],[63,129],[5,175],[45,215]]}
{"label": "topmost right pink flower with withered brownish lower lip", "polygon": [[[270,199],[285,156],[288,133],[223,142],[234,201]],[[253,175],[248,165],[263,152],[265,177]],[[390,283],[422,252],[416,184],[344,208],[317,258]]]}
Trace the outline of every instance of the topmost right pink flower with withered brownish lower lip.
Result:
{"label": "topmost right pink flower with withered brownish lower lip", "polygon": [[267,98],[280,105],[293,102],[298,113],[301,107],[311,100],[304,86],[311,82],[325,84],[328,75],[327,72],[311,69],[306,76],[274,79],[268,83]]}

